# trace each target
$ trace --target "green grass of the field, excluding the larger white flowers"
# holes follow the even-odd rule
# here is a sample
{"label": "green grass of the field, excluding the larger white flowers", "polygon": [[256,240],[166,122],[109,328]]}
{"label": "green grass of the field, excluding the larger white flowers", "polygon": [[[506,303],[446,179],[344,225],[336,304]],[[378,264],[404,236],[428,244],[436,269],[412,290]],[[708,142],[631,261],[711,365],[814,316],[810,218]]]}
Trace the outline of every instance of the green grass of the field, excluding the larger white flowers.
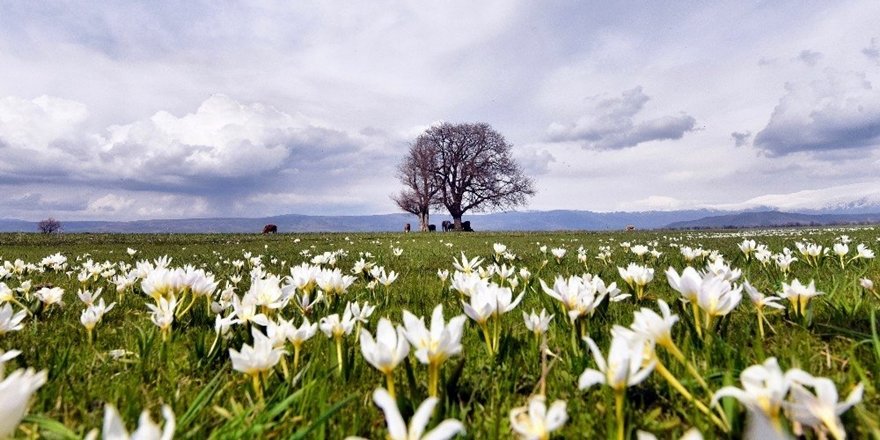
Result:
{"label": "green grass of the field, excluding the larger white flowers", "polygon": [[[754,253],[747,256],[741,251],[738,245],[744,239],[765,245],[774,255],[788,248],[798,260],[784,273],[773,257],[762,263]],[[626,436],[634,438],[636,430],[643,430],[660,438],[678,438],[695,427],[705,438],[741,437],[747,414],[744,405],[725,398],[707,414],[694,400],[708,408],[715,391],[741,386],[742,370],[775,357],[782,371],[800,368],[830,379],[841,402],[861,383],[863,398],[841,415],[843,426],[853,438],[880,438],[880,317],[876,316],[880,300],[861,285],[867,278],[880,288],[880,263],[876,258],[854,258],[858,244],[878,250],[878,240],[880,232],[874,228],[736,233],[3,234],[0,264],[5,263],[6,269],[0,272],[0,281],[14,291],[14,301],[19,303],[7,304],[14,311],[22,306],[30,310],[22,321],[23,328],[0,333],[0,350],[22,352],[6,363],[5,371],[9,375],[18,368],[33,367],[45,370],[48,377],[32,397],[29,416],[14,436],[82,437],[101,428],[104,406],[109,403],[118,408],[129,430],[134,429],[143,409],[158,420],[162,405],[168,405],[176,415],[177,438],[384,438],[385,417],[372,395],[376,388],[386,387],[386,378],[365,361],[355,341],[356,330],[340,339],[341,368],[334,339],[318,330],[303,344],[299,365],[294,367],[293,346],[288,343],[283,346],[287,352],[284,360],[256,376],[255,382],[251,375],[232,368],[229,349],[240,351],[243,344],[253,344],[250,327],[265,333],[262,326],[237,324],[218,337],[216,310],[211,310],[207,299],[182,288],[175,292],[180,299],[179,316],[163,338],[151,321],[147,305],[155,300],[144,294],[143,279],[133,278],[133,286],[119,292],[112,282],[126,273],[137,276],[139,261],[153,262],[167,256],[168,268],[192,265],[212,274],[218,286],[211,298],[217,301],[227,284],[238,297],[248,292],[254,268],[263,278],[269,274],[284,277],[291,274],[291,266],[330,252],[334,264],[321,266],[339,268],[357,279],[346,292],[315,305],[309,319],[314,323],[333,313],[341,315],[349,302],[369,302],[376,309],[358,327],[374,336],[380,318],[401,324],[404,310],[425,317],[428,325],[438,304],[443,305],[446,321],[462,315],[462,303],[469,298],[450,288],[452,275],[445,281],[438,276],[442,270],[454,273],[453,263],[462,254],[482,258],[484,269],[495,261],[515,268],[510,276],[494,273],[489,278],[504,286],[513,283],[513,297],[524,293],[522,302],[499,315],[497,322],[494,318],[490,321],[489,345],[481,327],[467,319],[461,353],[440,366],[439,403],[429,428],[453,418],[463,423],[468,438],[510,438],[511,410],[527,405],[530,396],[540,393],[546,395],[548,405],[555,400],[567,404],[567,421],[552,433],[554,437],[616,437],[618,393],[601,384],[578,387],[585,369],[597,369],[589,344],[581,336],[588,335],[607,355],[612,326],[629,326],[634,312],[642,307],[659,312],[657,300],[663,299],[679,316],[671,335],[684,356],[679,360],[658,343],[656,360],[678,384],[655,367],[647,379],[627,387],[622,406]],[[842,241],[848,241],[849,248],[843,263],[830,250]],[[813,263],[801,254],[797,242],[815,243],[829,251]],[[514,255],[496,254],[496,243]],[[636,245],[647,246],[659,255],[649,252],[639,256],[631,249]],[[686,261],[682,253],[685,246],[707,252]],[[130,255],[129,248],[136,252]],[[557,258],[551,253],[553,249],[565,249],[565,255]],[[708,255],[711,251],[716,254]],[[60,259],[43,262],[56,253],[66,257],[63,265],[57,263]],[[604,259],[600,258],[603,254]],[[783,290],[783,283],[797,279],[804,284],[815,281],[816,290],[824,293],[814,297],[803,314],[797,313],[789,300],[780,300],[784,309],[765,308],[766,321],[759,327],[756,308],[743,291],[742,301],[729,314],[715,316],[704,328],[707,315],[699,313],[702,318],[695,322],[692,305],[681,301],[682,295],[667,282],[664,272],[672,267],[682,273],[687,266],[705,270],[717,255],[742,271],[731,280],[735,287],[747,280],[758,291],[776,295]],[[369,276],[352,273],[358,260],[393,270],[399,278],[387,287],[379,284],[371,288]],[[643,297],[633,295],[617,302],[605,298],[575,324],[562,303],[545,293],[540,283],[543,280],[549,287],[557,276],[589,273],[606,285],[616,282],[622,294],[633,293],[618,270],[630,263],[654,269]],[[529,276],[523,276],[522,268]],[[144,271],[142,268],[141,277]],[[63,289],[63,305],[43,305],[36,297],[43,287]],[[108,304],[116,305],[94,328],[90,342],[81,323],[86,306],[77,291],[98,288],[103,289],[101,297]],[[195,302],[185,310],[191,298]],[[546,348],[552,354],[543,356],[543,361],[541,338],[529,331],[523,320],[523,312],[542,308],[555,315],[545,335]],[[303,319],[293,302],[259,310],[273,320],[292,320],[295,326]],[[229,316],[233,308],[220,313]],[[430,391],[428,367],[419,362],[415,351],[412,348],[393,370],[397,402],[405,420]],[[793,411],[788,406],[783,409],[781,426],[786,430],[797,429],[792,423]],[[812,429],[804,427],[804,431],[809,438],[816,437]],[[834,434],[833,429],[827,432]]]}

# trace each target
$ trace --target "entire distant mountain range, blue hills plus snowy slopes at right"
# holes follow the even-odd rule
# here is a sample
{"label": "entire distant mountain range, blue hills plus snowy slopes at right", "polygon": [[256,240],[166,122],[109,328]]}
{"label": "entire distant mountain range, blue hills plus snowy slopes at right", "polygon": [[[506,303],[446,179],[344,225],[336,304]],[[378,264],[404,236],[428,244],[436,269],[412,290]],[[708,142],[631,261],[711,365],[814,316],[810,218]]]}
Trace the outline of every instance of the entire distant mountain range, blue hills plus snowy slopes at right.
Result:
{"label": "entire distant mountain range, blue hills plus snowy slopes at right", "polygon": [[[417,228],[415,216],[277,215],[260,218],[190,218],[134,221],[65,221],[65,232],[119,233],[253,233],[266,224],[279,232],[402,231],[405,223]],[[435,214],[432,223],[451,220]],[[477,231],[558,231],[637,229],[754,228],[880,223],[880,185],[862,183],[788,194],[767,194],[741,203],[704,205],[698,209],[635,212],[575,210],[511,211],[465,216]],[[37,222],[0,219],[0,232],[34,232]],[[439,227],[438,227],[439,229]]]}

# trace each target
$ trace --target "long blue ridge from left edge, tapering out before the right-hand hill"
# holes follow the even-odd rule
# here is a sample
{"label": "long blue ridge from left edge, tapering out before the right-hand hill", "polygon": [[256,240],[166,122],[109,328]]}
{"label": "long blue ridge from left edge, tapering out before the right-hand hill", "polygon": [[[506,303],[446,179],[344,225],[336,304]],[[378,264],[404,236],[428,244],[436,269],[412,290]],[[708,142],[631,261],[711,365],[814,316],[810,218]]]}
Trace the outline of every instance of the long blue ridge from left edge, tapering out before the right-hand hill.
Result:
{"label": "long blue ridge from left edge, tapering out before the right-hand hill", "polygon": [[[688,211],[591,212],[591,211],[527,211],[468,215],[477,231],[560,231],[620,230],[627,225],[638,229],[656,229],[671,222],[696,220],[719,211],[708,209]],[[278,225],[279,232],[369,232],[400,231],[404,223],[417,228],[415,216],[407,214],[360,216],[280,215],[261,218],[194,218],[135,221],[64,221],[64,232],[116,233],[232,233],[260,232],[263,225]],[[434,215],[432,223],[451,220],[448,215]],[[439,229],[439,227],[438,227]],[[0,231],[35,232],[36,222],[0,219]]]}

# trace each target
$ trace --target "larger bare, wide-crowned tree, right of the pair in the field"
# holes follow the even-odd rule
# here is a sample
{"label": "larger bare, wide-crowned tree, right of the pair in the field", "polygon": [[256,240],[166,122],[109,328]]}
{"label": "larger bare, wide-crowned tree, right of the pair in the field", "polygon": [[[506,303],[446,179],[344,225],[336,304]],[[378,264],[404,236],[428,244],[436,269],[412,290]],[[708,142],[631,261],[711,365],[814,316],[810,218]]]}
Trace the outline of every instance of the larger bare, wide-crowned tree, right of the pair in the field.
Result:
{"label": "larger bare, wide-crowned tree, right of the pair in the field", "polygon": [[[511,145],[489,124],[435,125],[410,150],[430,157],[432,204],[445,206],[456,230],[468,211],[509,209],[525,205],[534,184],[511,156]],[[404,162],[406,164],[406,161]]]}

